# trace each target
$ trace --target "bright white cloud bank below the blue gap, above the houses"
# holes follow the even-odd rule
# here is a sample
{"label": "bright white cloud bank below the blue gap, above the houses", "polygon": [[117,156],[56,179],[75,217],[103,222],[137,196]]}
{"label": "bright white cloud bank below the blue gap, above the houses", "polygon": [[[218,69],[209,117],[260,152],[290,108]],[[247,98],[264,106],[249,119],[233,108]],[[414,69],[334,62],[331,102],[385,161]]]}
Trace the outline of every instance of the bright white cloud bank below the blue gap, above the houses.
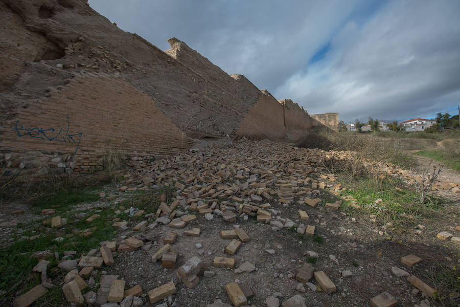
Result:
{"label": "bright white cloud bank below the blue gap, above the houses", "polygon": [[359,29],[349,23],[332,39],[325,67],[313,64],[276,93],[292,95],[309,113],[338,111],[346,121],[452,108],[460,98],[458,4],[398,1]]}

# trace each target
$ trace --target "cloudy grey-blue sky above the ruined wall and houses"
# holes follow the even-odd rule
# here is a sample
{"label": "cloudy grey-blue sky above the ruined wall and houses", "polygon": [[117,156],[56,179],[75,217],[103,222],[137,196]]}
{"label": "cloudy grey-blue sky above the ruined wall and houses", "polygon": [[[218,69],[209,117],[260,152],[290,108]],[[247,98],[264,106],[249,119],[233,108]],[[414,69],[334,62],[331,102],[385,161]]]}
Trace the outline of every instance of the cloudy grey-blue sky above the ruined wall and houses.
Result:
{"label": "cloudy grey-blue sky above the ruined wall and houses", "polygon": [[162,50],[177,37],[308,113],[346,122],[455,114],[460,1],[90,0]]}

